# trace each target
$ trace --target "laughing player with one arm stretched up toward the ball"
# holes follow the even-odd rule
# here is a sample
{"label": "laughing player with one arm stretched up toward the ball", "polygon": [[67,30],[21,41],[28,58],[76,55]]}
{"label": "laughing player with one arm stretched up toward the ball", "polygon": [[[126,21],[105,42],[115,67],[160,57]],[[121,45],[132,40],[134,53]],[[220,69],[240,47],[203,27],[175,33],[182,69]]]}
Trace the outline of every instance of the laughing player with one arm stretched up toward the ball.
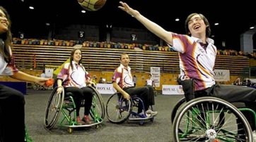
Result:
{"label": "laughing player with one arm stretched up toward the ball", "polygon": [[[214,63],[216,58],[216,46],[214,40],[210,39],[211,29],[208,20],[200,13],[192,13],[185,20],[185,34],[168,32],[162,27],[145,18],[139,11],[130,8],[126,3],[120,1],[118,8],[139,20],[153,34],[163,39],[170,48],[179,52],[180,79],[185,91],[185,98],[191,100],[199,94],[215,96],[229,102],[243,101],[247,105],[256,104],[256,89],[243,86],[231,86],[216,84],[214,79]],[[189,88],[194,84],[194,96]],[[246,116],[245,116],[246,117]],[[254,125],[252,125],[252,129]]]}

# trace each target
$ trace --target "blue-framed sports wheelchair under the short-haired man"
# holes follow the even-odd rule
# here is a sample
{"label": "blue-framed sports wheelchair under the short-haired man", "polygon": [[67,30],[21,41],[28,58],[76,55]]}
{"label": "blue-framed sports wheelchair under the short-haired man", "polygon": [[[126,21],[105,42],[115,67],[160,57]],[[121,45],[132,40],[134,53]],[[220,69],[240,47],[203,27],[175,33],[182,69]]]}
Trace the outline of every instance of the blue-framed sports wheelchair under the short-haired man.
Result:
{"label": "blue-framed sports wheelchair under the short-haired man", "polygon": [[[138,113],[138,108],[141,107],[143,114]],[[151,105],[151,110],[153,106]],[[122,93],[114,93],[108,98],[106,104],[107,119],[115,124],[121,124],[127,120],[139,120],[139,124],[144,124],[144,120],[153,122],[153,116],[146,117],[144,103],[137,96],[130,97],[127,101],[123,98]]]}

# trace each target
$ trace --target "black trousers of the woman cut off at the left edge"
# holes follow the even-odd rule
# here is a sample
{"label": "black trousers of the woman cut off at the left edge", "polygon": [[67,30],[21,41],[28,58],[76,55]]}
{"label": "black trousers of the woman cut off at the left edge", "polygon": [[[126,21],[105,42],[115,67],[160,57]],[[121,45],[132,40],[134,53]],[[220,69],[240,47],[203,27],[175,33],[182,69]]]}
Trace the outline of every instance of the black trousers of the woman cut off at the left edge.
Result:
{"label": "black trousers of the woman cut off at the left edge", "polygon": [[0,141],[25,141],[23,93],[0,84]]}

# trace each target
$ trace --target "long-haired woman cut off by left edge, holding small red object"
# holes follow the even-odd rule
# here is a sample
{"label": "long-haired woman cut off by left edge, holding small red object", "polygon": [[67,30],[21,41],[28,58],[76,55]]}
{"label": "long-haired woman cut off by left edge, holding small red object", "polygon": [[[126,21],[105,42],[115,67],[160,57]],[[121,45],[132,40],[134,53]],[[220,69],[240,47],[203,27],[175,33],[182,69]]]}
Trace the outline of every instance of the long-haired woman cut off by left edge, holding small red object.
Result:
{"label": "long-haired woman cut off by left edge, holding small red object", "polygon": [[[13,79],[35,82],[42,86],[48,80],[19,71],[11,52],[11,20],[5,8],[0,6],[0,75]],[[0,141],[24,141],[25,99],[23,93],[0,84]]]}

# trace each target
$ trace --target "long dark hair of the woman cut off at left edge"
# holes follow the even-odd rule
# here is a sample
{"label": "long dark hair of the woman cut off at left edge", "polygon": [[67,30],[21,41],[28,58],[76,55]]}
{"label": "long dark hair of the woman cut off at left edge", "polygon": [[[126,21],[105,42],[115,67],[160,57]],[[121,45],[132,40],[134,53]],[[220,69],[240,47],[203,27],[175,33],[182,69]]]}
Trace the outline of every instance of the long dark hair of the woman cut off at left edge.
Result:
{"label": "long dark hair of the woman cut off at left edge", "polygon": [[3,34],[0,34],[0,54],[1,56],[3,56],[6,63],[9,63],[11,61],[11,51],[9,47],[12,47],[11,46],[11,40],[12,40],[11,19],[10,19],[10,15],[8,14],[8,12],[3,6],[0,6],[0,10],[4,12],[9,22],[8,31],[4,32]]}

